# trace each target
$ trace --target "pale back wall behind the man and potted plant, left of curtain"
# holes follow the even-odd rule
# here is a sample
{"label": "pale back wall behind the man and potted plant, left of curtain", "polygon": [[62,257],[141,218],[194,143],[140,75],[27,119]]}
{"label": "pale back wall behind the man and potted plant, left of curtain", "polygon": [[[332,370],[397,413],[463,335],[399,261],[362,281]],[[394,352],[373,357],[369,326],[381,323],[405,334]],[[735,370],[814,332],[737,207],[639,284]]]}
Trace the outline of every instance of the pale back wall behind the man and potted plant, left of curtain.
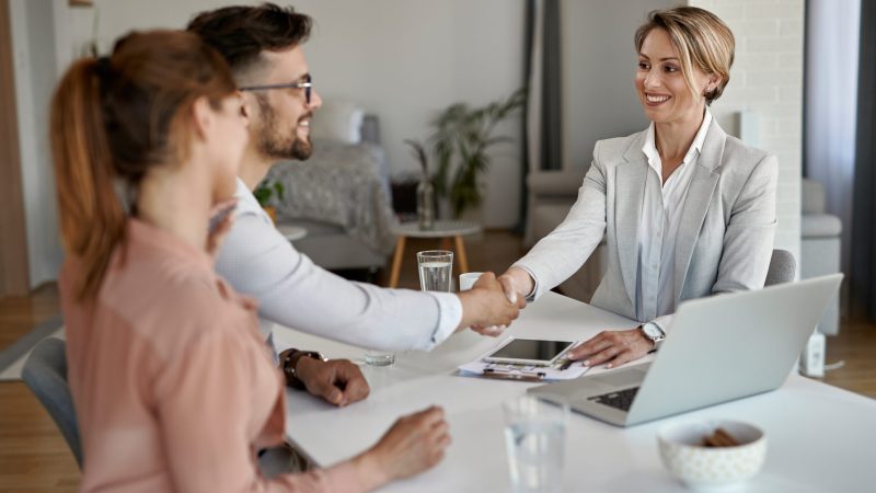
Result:
{"label": "pale back wall behind the man and potted plant, left of curtain", "polygon": [[[100,42],[131,28],[182,27],[194,13],[228,1],[97,0]],[[427,122],[445,106],[484,104],[522,84],[523,0],[298,0],[315,20],[304,45],[323,99],[356,101],[381,118],[393,171],[416,170],[402,144],[425,138]],[[82,32],[76,36],[83,38]],[[500,130],[519,139],[520,117]],[[497,147],[486,176],[484,222],[517,222],[519,145]]]}

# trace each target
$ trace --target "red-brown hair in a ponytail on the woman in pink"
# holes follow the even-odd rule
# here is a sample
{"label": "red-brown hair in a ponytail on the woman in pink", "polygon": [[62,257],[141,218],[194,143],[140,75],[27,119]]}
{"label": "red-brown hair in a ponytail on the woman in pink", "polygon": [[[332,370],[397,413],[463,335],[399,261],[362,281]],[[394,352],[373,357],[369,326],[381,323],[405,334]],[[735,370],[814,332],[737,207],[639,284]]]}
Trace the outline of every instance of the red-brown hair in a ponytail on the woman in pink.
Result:
{"label": "red-brown hair in a ponytail on the woman in pink", "polygon": [[195,101],[219,107],[235,89],[222,57],[183,31],[128,34],[112,57],[81,59],[64,76],[51,101],[51,151],[64,244],[81,263],[80,301],[96,296],[125,238],[114,183],[136,188],[152,168],[185,159]]}

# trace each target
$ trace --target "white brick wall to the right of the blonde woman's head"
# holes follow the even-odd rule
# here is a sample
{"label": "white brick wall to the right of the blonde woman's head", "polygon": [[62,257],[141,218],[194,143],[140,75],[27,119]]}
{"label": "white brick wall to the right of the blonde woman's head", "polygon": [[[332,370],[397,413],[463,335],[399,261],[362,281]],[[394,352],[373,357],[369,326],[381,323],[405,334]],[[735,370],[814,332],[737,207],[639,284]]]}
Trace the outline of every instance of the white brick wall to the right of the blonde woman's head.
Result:
{"label": "white brick wall to the right of the blonde woman's head", "polygon": [[730,83],[712,113],[738,135],[736,112],[759,122],[753,146],[779,158],[775,248],[800,251],[804,0],[690,0],[719,16],[736,36]]}

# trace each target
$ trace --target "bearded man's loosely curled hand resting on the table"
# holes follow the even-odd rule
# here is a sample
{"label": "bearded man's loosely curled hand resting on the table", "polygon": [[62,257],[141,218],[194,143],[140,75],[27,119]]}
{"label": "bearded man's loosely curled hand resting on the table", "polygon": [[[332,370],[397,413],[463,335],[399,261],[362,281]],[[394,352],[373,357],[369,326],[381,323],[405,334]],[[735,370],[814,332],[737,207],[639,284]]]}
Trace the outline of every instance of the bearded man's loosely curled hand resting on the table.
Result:
{"label": "bearded man's loosely curled hand resting on the table", "polygon": [[308,392],[341,408],[361,401],[371,391],[359,367],[348,359],[321,362],[302,357],[296,365],[296,375]]}

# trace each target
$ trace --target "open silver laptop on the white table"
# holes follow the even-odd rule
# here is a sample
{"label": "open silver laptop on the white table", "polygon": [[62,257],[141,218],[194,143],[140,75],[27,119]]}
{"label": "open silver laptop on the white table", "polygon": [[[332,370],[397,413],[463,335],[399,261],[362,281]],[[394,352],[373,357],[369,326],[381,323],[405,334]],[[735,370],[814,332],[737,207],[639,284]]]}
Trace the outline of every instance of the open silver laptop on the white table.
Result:
{"label": "open silver laptop on the white table", "polygon": [[533,387],[619,426],[775,390],[787,379],[842,274],[682,302],[649,365]]}

